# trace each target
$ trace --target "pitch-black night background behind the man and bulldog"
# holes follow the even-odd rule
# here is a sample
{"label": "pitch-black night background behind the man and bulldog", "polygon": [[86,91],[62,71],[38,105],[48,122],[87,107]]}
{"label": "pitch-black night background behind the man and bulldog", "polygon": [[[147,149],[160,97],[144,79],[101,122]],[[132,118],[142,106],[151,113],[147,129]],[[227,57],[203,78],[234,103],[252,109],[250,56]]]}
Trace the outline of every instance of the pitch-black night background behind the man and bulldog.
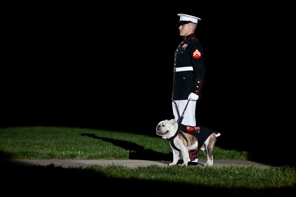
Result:
{"label": "pitch-black night background behind the man and bulldog", "polygon": [[280,16],[247,4],[116,6],[125,8],[42,6],[10,16],[1,127],[156,136],[157,124],[173,118],[177,14],[189,14],[201,18],[195,35],[206,66],[197,125],[219,131],[218,146],[255,152],[272,165],[294,164]]}

